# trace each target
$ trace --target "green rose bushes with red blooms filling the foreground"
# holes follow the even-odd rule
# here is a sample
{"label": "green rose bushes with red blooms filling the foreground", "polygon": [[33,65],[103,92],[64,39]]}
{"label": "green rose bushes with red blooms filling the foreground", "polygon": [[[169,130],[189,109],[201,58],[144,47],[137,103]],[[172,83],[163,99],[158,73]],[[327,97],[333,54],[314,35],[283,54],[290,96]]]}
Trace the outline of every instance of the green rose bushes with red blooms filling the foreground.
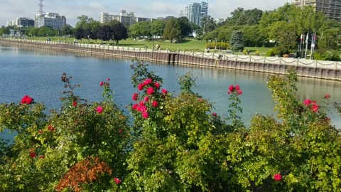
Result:
{"label": "green rose bushes with red blooms filling the foreground", "polygon": [[[276,117],[255,114],[249,127],[239,114],[242,88],[227,90],[227,117],[193,93],[190,73],[180,94],[133,60],[137,89],[131,119],[114,103],[110,80],[99,83],[102,102],[75,95],[63,74],[60,110],[28,95],[0,105],[0,191],[338,191],[340,132],[322,103],[297,99],[297,76],[270,75]],[[328,104],[329,94],[325,95]],[[337,105],[337,107],[340,107]],[[129,123],[129,120],[131,122]]]}

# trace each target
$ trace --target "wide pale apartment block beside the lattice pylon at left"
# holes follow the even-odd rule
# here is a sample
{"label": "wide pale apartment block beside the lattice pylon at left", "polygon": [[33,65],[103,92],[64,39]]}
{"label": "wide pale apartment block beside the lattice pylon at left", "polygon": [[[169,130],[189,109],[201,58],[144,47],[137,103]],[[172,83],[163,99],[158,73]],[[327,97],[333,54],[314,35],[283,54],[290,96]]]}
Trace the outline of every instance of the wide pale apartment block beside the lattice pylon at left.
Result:
{"label": "wide pale apartment block beside the lattice pylon at left", "polygon": [[50,26],[53,29],[61,29],[66,25],[65,16],[60,16],[56,13],[45,13],[45,14],[36,14],[34,26],[36,28],[42,26]]}

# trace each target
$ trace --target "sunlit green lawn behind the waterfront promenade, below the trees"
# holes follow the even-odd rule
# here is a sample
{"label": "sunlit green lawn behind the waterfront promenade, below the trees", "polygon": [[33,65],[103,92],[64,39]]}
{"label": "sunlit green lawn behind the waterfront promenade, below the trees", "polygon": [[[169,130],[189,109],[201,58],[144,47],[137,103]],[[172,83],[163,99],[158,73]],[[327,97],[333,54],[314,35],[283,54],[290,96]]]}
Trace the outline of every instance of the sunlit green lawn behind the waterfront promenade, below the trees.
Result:
{"label": "sunlit green lawn behind the waterfront promenade, below the trees", "polygon": [[[35,39],[35,40],[40,40],[40,41],[46,41],[46,37],[35,37],[35,38],[30,38],[30,39]],[[50,37],[51,41],[65,41],[65,38],[63,37]],[[67,42],[72,43],[75,38],[66,38]],[[78,40],[80,42],[80,40]],[[82,39],[82,43],[96,43],[93,39],[90,39],[89,41],[87,39]],[[97,43],[102,43],[102,41],[97,40]],[[109,42],[104,42],[104,43],[112,43],[112,41]],[[127,38],[126,40],[121,40],[119,41],[119,46],[124,46],[124,47],[131,47],[131,48],[153,48],[153,46],[156,46],[158,44],[161,49],[167,49],[168,50],[185,50],[185,51],[192,51],[194,50],[195,52],[203,52],[206,48],[206,41],[205,40],[197,40],[195,38],[186,38],[183,42],[181,43],[171,43],[169,41],[148,41],[148,40],[139,40],[139,39],[131,39]],[[270,48],[262,48],[262,47],[245,47],[246,50],[250,50],[250,55],[254,55],[254,52],[256,50],[259,50],[260,55],[265,55],[266,52]],[[211,53],[214,50],[211,50]],[[217,53],[220,51],[217,50]],[[234,53],[234,54],[242,54],[242,52],[239,53]]]}

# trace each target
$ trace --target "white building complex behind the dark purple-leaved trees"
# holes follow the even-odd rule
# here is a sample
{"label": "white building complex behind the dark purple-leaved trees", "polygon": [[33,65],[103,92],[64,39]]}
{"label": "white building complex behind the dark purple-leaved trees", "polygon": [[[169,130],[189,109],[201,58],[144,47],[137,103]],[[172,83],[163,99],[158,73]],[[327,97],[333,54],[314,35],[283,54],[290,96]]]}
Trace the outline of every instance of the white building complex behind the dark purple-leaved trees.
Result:
{"label": "white building complex behind the dark purple-leaved trees", "polygon": [[153,18],[136,17],[134,12],[127,13],[126,10],[121,10],[119,15],[110,15],[109,13],[102,12],[99,16],[101,23],[109,23],[110,21],[119,21],[124,26],[131,26],[134,23],[142,21],[153,21]]}

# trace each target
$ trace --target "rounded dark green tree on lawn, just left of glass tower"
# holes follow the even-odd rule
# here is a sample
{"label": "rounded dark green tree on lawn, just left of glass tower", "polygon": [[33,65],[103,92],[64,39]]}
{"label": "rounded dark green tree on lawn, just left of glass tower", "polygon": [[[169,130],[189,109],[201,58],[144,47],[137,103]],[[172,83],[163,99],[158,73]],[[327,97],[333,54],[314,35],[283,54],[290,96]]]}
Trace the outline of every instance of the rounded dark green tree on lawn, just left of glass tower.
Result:
{"label": "rounded dark green tree on lawn, just left of glass tower", "polygon": [[163,38],[168,39],[173,43],[173,40],[181,38],[181,26],[176,18],[171,18],[166,22],[165,31],[163,32]]}

